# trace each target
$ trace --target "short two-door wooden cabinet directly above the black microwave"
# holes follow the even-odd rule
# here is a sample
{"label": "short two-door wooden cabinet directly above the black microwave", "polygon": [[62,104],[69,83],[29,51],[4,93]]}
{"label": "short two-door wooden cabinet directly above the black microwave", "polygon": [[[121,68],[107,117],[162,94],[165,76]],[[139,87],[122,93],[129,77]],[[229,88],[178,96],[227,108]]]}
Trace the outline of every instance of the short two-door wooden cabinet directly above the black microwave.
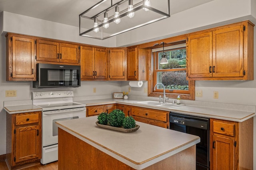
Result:
{"label": "short two-door wooden cabinet directly above the black microwave", "polygon": [[80,62],[80,46],[57,41],[36,40],[36,60],[54,63]]}

